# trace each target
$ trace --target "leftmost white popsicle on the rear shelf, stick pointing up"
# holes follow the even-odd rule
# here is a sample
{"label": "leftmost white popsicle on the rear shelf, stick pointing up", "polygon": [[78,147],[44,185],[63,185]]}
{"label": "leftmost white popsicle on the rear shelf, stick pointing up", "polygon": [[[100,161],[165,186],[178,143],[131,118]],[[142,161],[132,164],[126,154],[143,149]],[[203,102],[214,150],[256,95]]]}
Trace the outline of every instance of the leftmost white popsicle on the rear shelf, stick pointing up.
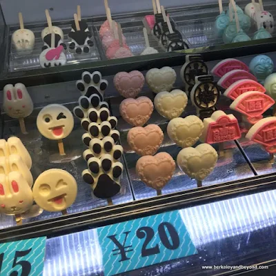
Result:
{"label": "leftmost white popsicle on the rear shelf, stick pointing up", "polygon": [[19,12],[20,29],[12,34],[12,44],[18,55],[29,55],[34,48],[34,33],[24,28],[22,13]]}

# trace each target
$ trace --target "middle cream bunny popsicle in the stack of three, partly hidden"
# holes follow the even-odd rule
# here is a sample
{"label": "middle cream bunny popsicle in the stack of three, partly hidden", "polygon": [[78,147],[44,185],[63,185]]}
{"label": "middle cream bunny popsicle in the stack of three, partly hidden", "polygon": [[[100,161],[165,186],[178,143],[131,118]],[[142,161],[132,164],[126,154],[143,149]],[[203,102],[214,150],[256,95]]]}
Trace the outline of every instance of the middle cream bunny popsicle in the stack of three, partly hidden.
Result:
{"label": "middle cream bunny popsicle in the stack of three, partly hidden", "polygon": [[0,157],[0,174],[8,175],[10,172],[20,172],[29,186],[32,187],[34,181],[32,173],[19,155]]}

